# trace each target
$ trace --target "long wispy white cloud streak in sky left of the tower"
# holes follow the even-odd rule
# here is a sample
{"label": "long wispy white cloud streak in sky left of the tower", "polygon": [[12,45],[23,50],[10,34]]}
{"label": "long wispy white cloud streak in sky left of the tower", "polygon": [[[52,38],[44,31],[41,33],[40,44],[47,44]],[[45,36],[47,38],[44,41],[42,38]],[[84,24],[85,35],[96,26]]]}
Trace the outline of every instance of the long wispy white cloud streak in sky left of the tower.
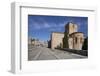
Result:
{"label": "long wispy white cloud streak in sky left of the tower", "polygon": [[[58,27],[64,27],[65,24],[67,22],[63,22],[63,23],[54,23],[54,22],[47,22],[41,18],[38,19],[38,21],[36,20],[30,20],[30,26],[33,29],[39,30],[39,29],[43,29],[43,28],[57,28]],[[54,29],[51,29],[54,30]]]}

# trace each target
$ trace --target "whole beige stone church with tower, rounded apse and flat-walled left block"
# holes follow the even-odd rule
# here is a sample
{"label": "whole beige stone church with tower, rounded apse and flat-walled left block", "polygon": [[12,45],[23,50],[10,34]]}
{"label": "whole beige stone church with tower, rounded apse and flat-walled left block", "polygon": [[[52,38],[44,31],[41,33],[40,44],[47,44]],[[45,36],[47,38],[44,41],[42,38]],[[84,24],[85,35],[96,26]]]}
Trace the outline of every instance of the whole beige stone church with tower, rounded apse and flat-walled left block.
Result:
{"label": "whole beige stone church with tower, rounded apse and flat-walled left block", "polygon": [[69,22],[65,25],[65,32],[53,32],[51,35],[51,48],[69,48],[82,50],[84,34],[78,32],[78,25]]}

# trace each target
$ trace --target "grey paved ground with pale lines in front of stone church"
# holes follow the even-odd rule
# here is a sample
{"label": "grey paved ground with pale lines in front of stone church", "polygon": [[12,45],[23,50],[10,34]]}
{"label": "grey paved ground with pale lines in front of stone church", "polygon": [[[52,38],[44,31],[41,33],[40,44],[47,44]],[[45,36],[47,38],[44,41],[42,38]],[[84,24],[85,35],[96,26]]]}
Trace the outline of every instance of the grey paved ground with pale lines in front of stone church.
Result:
{"label": "grey paved ground with pale lines in front of stone church", "polygon": [[28,60],[55,60],[55,59],[79,59],[86,56],[70,53],[62,50],[52,50],[41,46],[29,46]]}

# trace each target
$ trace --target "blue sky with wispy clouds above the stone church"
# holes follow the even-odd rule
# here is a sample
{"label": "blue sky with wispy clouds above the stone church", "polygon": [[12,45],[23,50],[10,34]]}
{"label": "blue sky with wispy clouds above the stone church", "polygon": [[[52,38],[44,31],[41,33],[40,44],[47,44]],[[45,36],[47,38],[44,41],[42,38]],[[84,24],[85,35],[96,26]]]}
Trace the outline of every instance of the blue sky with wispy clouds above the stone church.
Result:
{"label": "blue sky with wispy clouds above the stone church", "polygon": [[28,15],[28,36],[47,41],[51,32],[64,32],[68,22],[76,23],[78,31],[88,36],[88,17],[44,15]]}

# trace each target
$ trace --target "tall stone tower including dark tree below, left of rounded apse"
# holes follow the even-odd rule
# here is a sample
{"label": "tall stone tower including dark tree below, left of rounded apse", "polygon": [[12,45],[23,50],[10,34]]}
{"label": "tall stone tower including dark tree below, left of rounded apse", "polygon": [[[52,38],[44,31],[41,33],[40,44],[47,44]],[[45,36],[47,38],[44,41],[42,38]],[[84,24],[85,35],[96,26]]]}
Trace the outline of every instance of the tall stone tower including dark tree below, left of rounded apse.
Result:
{"label": "tall stone tower including dark tree below, left of rounded apse", "polygon": [[64,38],[63,38],[63,48],[71,48],[72,49],[72,38],[69,37],[70,34],[77,32],[78,27],[76,24],[73,24],[72,22],[69,22],[65,25],[65,32],[64,32]]}

